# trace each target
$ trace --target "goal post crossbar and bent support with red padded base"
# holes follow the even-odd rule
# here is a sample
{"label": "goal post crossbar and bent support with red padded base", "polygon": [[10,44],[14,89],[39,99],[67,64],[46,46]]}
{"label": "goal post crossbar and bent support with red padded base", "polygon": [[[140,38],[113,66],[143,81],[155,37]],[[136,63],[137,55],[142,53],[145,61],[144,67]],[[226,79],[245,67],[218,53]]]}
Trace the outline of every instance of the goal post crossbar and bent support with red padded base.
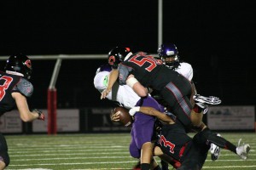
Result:
{"label": "goal post crossbar and bent support with red padded base", "polygon": [[[57,133],[57,89],[55,84],[61,69],[62,59],[106,59],[106,54],[57,54],[57,55],[28,55],[31,60],[51,60],[55,59],[55,67],[49,82],[47,92],[48,111],[48,134]],[[0,60],[7,60],[9,57],[0,56]]]}

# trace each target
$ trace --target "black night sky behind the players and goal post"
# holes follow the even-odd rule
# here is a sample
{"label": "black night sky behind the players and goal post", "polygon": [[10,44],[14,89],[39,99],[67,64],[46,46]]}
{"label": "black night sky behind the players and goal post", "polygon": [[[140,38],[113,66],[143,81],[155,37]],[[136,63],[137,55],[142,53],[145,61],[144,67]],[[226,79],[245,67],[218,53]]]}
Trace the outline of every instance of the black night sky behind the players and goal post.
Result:
{"label": "black night sky behind the players and goal post", "polygon": [[[222,105],[255,105],[255,5],[253,1],[163,0],[163,42],[174,42],[194,68],[199,94]],[[156,54],[158,1],[1,1],[0,56],[23,53],[106,54],[106,59],[63,60],[58,106],[109,105],[93,86],[96,68],[116,45]],[[4,61],[1,61],[3,70]],[[54,60],[33,60],[30,103],[47,107]]]}

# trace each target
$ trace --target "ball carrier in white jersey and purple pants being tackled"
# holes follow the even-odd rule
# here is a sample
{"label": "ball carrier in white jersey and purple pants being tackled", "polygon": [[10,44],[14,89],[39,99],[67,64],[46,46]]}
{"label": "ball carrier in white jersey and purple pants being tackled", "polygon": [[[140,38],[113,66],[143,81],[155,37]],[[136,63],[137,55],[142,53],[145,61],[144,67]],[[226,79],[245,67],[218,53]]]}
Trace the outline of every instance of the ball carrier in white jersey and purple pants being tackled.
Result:
{"label": "ball carrier in white jersey and purple pants being tackled", "polygon": [[[130,55],[131,50],[129,48],[113,48],[108,54],[108,57],[115,57],[115,63],[112,65],[113,69],[116,69],[121,58],[126,55]],[[111,71],[110,65],[102,65],[96,71],[96,77],[94,79],[95,88],[101,93],[108,86],[108,76]],[[160,105],[157,101],[148,96],[145,98],[139,97],[131,87],[124,85],[120,86],[118,82],[113,85],[113,90],[107,96],[107,99],[118,101],[120,105],[123,105],[126,109],[131,109],[135,105],[151,106],[156,110],[160,111]],[[112,120],[118,121],[119,113],[113,114]],[[138,113],[134,116],[134,122],[131,128],[131,144],[130,144],[130,154],[132,157],[140,158],[140,163],[142,169],[145,166],[148,167],[153,158],[152,150],[154,143],[152,143],[152,138],[154,135],[154,116],[146,116],[142,113]],[[160,169],[156,167],[156,162],[154,162],[154,169]],[[147,169],[147,168],[146,168]]]}

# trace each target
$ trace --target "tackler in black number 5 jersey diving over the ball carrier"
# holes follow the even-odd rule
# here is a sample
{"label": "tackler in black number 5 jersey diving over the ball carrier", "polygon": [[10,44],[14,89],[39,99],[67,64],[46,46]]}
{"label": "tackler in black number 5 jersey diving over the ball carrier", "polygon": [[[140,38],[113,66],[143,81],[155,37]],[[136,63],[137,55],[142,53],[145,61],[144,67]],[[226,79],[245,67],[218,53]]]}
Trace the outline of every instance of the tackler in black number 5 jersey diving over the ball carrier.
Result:
{"label": "tackler in black number 5 jersey diving over the ball carrier", "polygon": [[[110,65],[113,65],[114,61],[114,55],[108,57]],[[120,85],[127,84],[141,97],[148,96],[148,88],[159,91],[185,127],[190,127],[192,124],[195,127],[202,126],[202,114],[199,111],[201,109],[196,107],[192,110],[190,103],[192,88],[187,78],[143,52],[126,55],[122,61],[118,69],[110,72],[108,87],[102,92],[101,99],[108,95],[113,83],[119,77]],[[212,98],[212,101],[220,103],[217,98]],[[212,104],[215,104],[214,102]]]}

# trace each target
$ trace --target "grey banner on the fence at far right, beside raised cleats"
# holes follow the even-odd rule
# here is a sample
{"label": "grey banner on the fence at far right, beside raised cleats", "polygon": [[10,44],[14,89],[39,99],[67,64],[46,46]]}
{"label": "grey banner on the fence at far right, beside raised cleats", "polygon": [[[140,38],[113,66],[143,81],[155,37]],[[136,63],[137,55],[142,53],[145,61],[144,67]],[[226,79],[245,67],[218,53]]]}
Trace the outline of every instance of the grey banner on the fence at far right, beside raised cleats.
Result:
{"label": "grey banner on the fence at far right, beside raised cleats", "polygon": [[207,112],[207,126],[212,130],[254,129],[254,106],[212,106]]}

